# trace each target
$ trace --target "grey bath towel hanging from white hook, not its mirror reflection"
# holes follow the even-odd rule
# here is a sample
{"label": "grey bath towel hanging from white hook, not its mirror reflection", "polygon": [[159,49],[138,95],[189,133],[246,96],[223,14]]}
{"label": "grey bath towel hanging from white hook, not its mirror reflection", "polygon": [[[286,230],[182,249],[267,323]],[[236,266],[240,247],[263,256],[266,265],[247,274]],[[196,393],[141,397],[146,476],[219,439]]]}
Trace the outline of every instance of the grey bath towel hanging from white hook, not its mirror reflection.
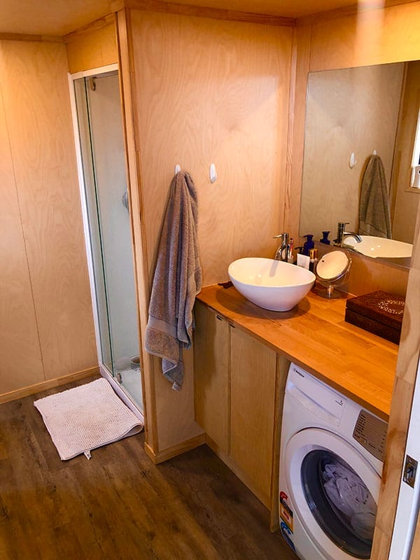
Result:
{"label": "grey bath towel hanging from white hook, not its mirror reflection", "polygon": [[191,346],[193,306],[202,286],[197,242],[197,193],[190,175],[170,186],[146,327],[146,351],[162,358],[162,373],[181,390],[182,349]]}

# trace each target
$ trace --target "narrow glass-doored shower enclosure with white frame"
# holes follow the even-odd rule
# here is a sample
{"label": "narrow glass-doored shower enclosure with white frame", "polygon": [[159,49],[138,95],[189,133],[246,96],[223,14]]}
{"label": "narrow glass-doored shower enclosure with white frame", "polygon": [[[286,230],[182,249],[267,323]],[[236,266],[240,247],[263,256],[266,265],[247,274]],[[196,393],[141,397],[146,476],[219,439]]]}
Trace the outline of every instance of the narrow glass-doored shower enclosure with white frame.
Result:
{"label": "narrow glass-doored shower enclosure with white frame", "polygon": [[[88,75],[86,75],[88,74]],[[143,414],[130,207],[116,65],[71,76],[99,367]]]}

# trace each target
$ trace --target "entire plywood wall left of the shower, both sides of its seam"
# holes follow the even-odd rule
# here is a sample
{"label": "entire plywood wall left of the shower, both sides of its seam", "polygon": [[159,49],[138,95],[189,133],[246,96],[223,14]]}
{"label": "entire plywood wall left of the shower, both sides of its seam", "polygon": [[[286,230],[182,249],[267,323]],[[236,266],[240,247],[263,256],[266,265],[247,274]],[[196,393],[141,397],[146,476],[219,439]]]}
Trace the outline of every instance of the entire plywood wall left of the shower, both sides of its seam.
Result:
{"label": "entire plywood wall left of the shower, both sides of its seam", "polygon": [[[66,66],[63,44],[0,42],[8,167],[0,221],[14,231],[1,262],[10,262],[7,289],[15,290],[1,305],[16,349],[15,363],[1,360],[0,393],[12,388],[9,378],[22,388],[97,365]],[[1,356],[12,351],[3,330],[1,346]]]}

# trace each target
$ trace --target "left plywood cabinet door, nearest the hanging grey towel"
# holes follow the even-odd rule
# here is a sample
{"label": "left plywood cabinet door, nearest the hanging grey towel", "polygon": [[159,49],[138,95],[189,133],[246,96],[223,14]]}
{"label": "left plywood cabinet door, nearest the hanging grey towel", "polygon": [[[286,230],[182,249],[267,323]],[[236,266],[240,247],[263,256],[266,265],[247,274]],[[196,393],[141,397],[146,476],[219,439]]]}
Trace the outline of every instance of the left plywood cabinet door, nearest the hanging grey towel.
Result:
{"label": "left plywood cabinet door, nearest the hanging grey towel", "polygon": [[229,452],[229,324],[195,304],[195,419],[224,454]]}

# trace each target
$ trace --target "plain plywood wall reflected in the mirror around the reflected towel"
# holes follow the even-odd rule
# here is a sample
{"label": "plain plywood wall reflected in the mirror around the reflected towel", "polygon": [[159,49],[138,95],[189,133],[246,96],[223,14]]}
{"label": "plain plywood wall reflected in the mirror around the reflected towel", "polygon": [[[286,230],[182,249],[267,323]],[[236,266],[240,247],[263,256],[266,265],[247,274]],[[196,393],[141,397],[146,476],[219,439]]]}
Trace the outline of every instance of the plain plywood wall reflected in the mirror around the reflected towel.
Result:
{"label": "plain plywood wall reflected in the mirror around the reflected towel", "polygon": [[300,235],[319,240],[328,230],[335,239],[339,221],[358,231],[360,185],[374,150],[389,190],[402,75],[402,63],[309,74]]}

